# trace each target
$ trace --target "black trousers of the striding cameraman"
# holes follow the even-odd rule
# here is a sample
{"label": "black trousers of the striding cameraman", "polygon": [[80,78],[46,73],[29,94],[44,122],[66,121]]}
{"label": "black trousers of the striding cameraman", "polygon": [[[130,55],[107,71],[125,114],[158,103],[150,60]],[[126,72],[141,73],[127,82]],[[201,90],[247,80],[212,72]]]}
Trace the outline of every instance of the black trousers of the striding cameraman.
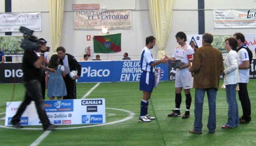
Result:
{"label": "black trousers of the striding cameraman", "polygon": [[50,125],[50,121],[44,110],[44,100],[42,98],[41,83],[39,82],[39,80],[30,80],[28,82],[25,82],[24,86],[26,88],[24,101],[19,106],[16,115],[14,115],[14,117],[12,118],[11,124],[19,123],[20,117],[26,110],[26,107],[30,104],[31,101],[34,101],[37,108],[37,114],[42,123],[42,127],[43,129],[46,129]]}

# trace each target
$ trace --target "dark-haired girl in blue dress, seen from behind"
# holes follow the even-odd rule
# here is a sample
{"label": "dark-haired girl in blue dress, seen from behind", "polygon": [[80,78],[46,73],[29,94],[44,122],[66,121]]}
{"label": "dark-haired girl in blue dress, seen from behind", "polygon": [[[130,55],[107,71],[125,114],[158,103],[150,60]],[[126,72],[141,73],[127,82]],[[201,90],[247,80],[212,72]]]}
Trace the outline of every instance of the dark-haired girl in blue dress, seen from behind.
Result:
{"label": "dark-haired girl in blue dress, seen from behind", "polygon": [[67,95],[67,90],[63,80],[63,77],[65,77],[64,66],[59,65],[58,55],[54,54],[51,56],[48,67],[54,68],[56,72],[46,72],[45,83],[46,88],[48,88],[47,96],[50,97],[50,100],[54,100],[54,97],[61,100],[63,96]]}

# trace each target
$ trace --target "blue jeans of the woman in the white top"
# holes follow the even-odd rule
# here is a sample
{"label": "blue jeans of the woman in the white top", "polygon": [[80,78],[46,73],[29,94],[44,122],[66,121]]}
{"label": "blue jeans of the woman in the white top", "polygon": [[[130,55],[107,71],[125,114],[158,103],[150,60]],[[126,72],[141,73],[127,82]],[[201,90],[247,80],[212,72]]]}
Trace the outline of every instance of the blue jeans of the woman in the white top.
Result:
{"label": "blue jeans of the woman in the white top", "polygon": [[231,128],[234,128],[239,125],[236,87],[237,84],[226,85],[226,95],[228,102],[228,122],[226,123],[226,126]]}

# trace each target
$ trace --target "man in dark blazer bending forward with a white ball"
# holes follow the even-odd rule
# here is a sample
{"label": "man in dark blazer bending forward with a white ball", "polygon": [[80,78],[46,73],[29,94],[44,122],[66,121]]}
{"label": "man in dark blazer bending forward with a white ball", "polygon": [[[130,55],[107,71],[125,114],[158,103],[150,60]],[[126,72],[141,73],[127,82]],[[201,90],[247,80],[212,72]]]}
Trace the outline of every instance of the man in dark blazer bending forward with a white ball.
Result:
{"label": "man in dark blazer bending forward with a white ball", "polygon": [[[64,47],[58,47],[57,53],[60,58],[60,63],[64,66],[66,73],[64,81],[67,88],[67,96],[63,97],[63,99],[76,99],[75,80],[81,75],[81,65],[76,61],[74,56],[66,53],[66,49]],[[74,80],[70,77],[71,71],[77,71],[77,75],[74,76]]]}

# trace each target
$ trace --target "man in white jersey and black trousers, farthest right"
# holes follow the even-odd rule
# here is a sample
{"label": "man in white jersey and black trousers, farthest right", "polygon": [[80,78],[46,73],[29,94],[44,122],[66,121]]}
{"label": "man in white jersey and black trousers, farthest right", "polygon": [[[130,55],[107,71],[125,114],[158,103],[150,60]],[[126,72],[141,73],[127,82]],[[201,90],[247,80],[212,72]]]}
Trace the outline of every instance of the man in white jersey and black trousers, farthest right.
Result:
{"label": "man in white jersey and black trousers, farthest right", "polygon": [[240,118],[240,124],[248,124],[251,121],[251,102],[247,91],[247,83],[249,82],[249,49],[245,43],[245,37],[242,33],[235,33],[233,37],[237,40],[238,49],[238,71],[239,71],[239,91],[238,96],[242,105],[243,115]]}

